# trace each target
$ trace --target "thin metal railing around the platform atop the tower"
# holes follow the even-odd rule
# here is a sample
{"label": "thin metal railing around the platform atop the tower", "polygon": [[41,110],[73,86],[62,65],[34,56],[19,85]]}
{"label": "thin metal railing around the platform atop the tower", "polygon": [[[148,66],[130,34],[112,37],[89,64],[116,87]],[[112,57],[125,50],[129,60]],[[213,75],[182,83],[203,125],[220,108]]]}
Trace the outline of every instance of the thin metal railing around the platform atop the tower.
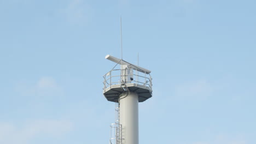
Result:
{"label": "thin metal railing around the platform atop the tower", "polygon": [[[103,75],[103,91],[106,91],[107,88],[111,88],[113,85],[123,86],[124,83],[135,83],[136,85],[144,86],[152,90],[152,77],[149,74],[141,73],[137,70],[136,73],[127,74],[127,70],[132,69],[123,69],[124,75],[122,75],[122,69],[113,69],[110,70],[106,75]],[[125,79],[124,77],[132,77],[132,79]]]}

